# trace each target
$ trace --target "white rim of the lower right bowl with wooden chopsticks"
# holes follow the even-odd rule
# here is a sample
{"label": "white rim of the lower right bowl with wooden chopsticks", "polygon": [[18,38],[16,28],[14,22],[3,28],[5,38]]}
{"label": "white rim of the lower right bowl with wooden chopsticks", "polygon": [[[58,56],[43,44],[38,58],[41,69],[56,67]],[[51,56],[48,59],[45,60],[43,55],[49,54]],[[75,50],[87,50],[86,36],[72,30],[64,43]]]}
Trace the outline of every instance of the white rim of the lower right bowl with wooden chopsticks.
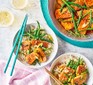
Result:
{"label": "white rim of the lower right bowl with wooden chopsticks", "polygon": [[[51,64],[51,67],[50,67],[50,71],[52,72],[52,69],[54,68],[54,66],[58,63],[59,59],[62,58],[63,56],[67,56],[67,55],[76,55],[75,57],[76,58],[79,58],[79,56],[81,56],[81,58],[83,58],[84,62],[86,63],[87,65],[87,68],[88,70],[90,71],[91,69],[91,74],[90,75],[90,81],[93,79],[93,65],[92,63],[89,61],[88,58],[86,58],[84,55],[80,54],[80,53],[75,53],[75,52],[67,52],[67,53],[64,53],[64,54],[61,54],[59,57],[57,57]],[[57,61],[58,60],[58,61]],[[89,69],[90,68],[90,69]],[[50,79],[51,81],[51,79]],[[93,81],[91,82],[93,84]]]}

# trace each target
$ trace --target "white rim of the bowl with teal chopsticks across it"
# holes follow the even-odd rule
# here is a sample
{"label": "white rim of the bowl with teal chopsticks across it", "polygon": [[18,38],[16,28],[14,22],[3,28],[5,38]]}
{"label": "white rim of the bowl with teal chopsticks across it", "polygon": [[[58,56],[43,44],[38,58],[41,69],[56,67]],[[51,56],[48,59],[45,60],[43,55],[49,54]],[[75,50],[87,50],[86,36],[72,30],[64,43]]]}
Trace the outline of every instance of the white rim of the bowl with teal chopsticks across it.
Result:
{"label": "white rim of the bowl with teal chopsticks across it", "polygon": [[[30,24],[27,24],[27,26],[29,26],[29,25],[33,25],[33,24],[35,24],[36,25],[36,23],[30,23]],[[52,32],[52,37],[53,37],[53,39],[54,39],[54,45],[56,46],[56,49],[54,49],[53,48],[53,51],[54,52],[52,52],[51,54],[53,54],[53,57],[50,59],[50,61],[48,61],[47,60],[47,62],[45,62],[45,64],[44,65],[38,65],[38,66],[35,66],[35,65],[29,65],[29,64],[24,64],[23,62],[21,62],[19,59],[17,59],[19,62],[21,62],[23,65],[25,65],[25,66],[27,66],[27,67],[30,67],[30,68],[33,68],[33,69],[39,69],[39,68],[42,68],[42,67],[44,67],[44,66],[46,66],[46,65],[48,65],[49,63],[51,63],[53,60],[54,60],[54,58],[56,57],[56,54],[57,54],[57,52],[58,52],[58,40],[57,40],[57,36],[55,35],[55,33],[52,31],[52,29],[50,29],[50,27],[49,26],[43,26],[41,23],[40,23],[40,25],[41,25],[41,27],[43,27],[45,30],[47,29],[47,30],[49,30],[49,31],[51,31]],[[47,31],[46,30],[46,31]],[[14,40],[15,40],[15,38],[16,38],[16,35],[17,35],[17,33],[19,32],[19,30],[16,32],[16,34],[15,34],[15,36],[14,36],[14,39],[13,39],[13,44],[12,45],[14,45]],[[53,46],[54,47],[54,46]],[[14,54],[15,54],[15,52],[14,52]],[[42,63],[41,63],[42,64]]]}

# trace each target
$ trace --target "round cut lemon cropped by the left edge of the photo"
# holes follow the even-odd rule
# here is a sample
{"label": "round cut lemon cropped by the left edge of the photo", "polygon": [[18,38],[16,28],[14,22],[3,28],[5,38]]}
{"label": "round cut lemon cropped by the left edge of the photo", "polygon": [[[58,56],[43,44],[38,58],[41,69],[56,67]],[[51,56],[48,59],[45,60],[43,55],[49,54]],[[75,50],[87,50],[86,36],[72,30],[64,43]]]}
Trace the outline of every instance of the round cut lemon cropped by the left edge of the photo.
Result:
{"label": "round cut lemon cropped by the left edge of the photo", "polygon": [[8,9],[0,10],[0,27],[8,27],[12,25],[14,21],[14,16],[12,12]]}

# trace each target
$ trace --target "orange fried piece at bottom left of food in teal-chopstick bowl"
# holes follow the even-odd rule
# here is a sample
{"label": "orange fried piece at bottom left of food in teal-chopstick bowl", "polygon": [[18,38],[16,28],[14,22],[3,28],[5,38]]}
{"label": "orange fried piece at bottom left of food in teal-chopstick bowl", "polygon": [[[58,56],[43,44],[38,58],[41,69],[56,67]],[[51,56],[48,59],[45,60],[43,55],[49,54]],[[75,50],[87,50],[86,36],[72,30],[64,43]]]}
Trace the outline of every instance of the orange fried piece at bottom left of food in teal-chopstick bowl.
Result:
{"label": "orange fried piece at bottom left of food in teal-chopstick bowl", "polygon": [[28,64],[32,64],[37,58],[38,58],[38,54],[37,53],[35,53],[35,52],[33,52],[33,53],[31,53],[31,54],[28,54],[27,56],[26,56],[26,62],[28,63]]}

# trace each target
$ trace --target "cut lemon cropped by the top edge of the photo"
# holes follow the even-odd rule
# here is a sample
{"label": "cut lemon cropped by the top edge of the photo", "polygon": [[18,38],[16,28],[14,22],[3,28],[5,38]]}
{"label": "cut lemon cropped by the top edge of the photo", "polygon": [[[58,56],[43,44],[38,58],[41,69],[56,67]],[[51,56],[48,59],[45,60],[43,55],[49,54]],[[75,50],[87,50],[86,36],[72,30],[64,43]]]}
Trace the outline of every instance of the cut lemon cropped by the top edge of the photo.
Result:
{"label": "cut lemon cropped by the top edge of the photo", "polygon": [[12,0],[11,4],[15,9],[24,9],[28,4],[28,0]]}

